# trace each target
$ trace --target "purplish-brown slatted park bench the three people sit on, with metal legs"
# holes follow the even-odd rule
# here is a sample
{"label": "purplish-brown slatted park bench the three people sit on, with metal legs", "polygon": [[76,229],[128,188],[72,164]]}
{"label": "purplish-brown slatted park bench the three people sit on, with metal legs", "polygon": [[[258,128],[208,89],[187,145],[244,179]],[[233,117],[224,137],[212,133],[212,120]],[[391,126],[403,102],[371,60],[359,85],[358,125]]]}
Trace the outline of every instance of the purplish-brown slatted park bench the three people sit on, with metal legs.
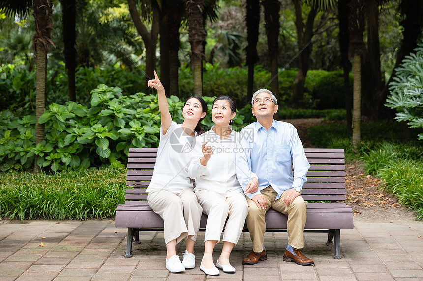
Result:
{"label": "purplish-brown slatted park bench the three people sit on, with metal legs", "polygon": [[[345,160],[343,149],[304,149],[311,167],[302,188],[307,205],[304,232],[328,233],[326,245],[334,239],[333,258],[340,259],[340,230],[353,229],[353,211],[345,203]],[[116,208],[116,227],[128,228],[126,255],[132,257],[132,241],[139,242],[139,231],[163,231],[163,220],[147,203],[145,192],[152,176],[157,148],[131,148],[128,157],[125,204]],[[203,214],[200,231],[206,227]],[[267,232],[286,232],[287,216],[270,209],[266,214]],[[243,231],[248,231],[246,225]]]}

